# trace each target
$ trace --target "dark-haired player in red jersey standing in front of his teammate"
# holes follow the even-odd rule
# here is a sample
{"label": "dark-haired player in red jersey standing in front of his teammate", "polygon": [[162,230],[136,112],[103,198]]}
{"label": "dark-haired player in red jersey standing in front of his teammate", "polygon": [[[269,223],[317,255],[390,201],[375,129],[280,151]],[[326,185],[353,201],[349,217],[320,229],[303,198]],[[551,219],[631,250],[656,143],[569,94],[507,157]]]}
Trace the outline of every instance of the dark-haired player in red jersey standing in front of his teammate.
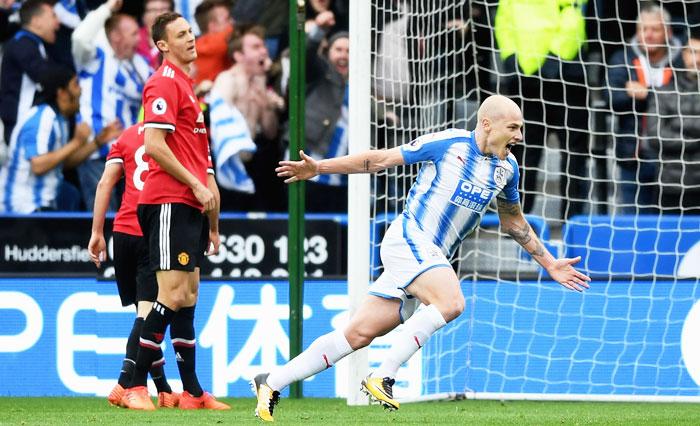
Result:
{"label": "dark-haired player in red jersey standing in front of his teammate", "polygon": [[158,16],[151,34],[164,60],[143,92],[150,171],[137,213],[156,271],[158,298],[143,324],[134,376],[122,402],[132,409],[155,409],[146,375],[169,325],[184,389],[179,407],[226,410],[228,405],[202,390],[195,372],[199,265],[209,247],[210,252],[219,247],[219,191],[208,175],[207,129],[188,77],[197,58],[194,34],[177,13]]}

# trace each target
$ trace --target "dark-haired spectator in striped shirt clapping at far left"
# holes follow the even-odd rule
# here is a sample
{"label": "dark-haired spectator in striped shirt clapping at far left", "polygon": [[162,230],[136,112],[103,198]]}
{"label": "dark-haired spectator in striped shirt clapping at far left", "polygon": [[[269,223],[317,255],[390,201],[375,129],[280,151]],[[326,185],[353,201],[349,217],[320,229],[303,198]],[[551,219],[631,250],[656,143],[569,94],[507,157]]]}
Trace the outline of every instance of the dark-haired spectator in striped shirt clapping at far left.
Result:
{"label": "dark-haired spectator in striped shirt clapping at far left", "polygon": [[15,126],[10,138],[7,167],[0,170],[0,212],[33,213],[64,210],[71,192],[62,166],[80,164],[96,149],[121,132],[117,124],[105,127],[89,142],[90,127],[79,124],[68,140],[69,122],[78,112],[80,86],[70,69],[58,67],[40,80],[42,103],[32,107]]}

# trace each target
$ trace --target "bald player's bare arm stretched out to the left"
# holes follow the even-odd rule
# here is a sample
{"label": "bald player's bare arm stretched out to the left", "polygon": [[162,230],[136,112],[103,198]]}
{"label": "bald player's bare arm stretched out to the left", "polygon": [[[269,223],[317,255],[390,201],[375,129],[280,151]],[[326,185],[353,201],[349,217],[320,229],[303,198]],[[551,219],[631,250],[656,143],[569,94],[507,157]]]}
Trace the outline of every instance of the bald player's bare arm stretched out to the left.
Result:
{"label": "bald player's bare arm stretched out to the left", "polygon": [[404,163],[401,148],[376,149],[343,157],[316,161],[299,151],[300,161],[280,161],[275,169],[277,176],[286,178],[285,183],[308,180],[323,174],[376,173]]}

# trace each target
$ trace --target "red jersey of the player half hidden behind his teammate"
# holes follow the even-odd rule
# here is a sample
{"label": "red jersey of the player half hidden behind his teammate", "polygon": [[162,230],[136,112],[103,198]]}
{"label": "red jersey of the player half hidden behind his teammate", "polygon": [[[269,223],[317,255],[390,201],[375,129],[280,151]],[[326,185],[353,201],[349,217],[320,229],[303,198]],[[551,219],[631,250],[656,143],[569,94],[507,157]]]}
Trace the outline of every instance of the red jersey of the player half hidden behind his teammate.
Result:
{"label": "red jersey of the player half hidden behind his teammate", "polygon": [[135,124],[122,132],[109,150],[105,167],[121,164],[124,168],[124,194],[122,204],[114,217],[114,230],[142,236],[136,217],[139,194],[148,176],[148,156],[143,146],[143,125]]}

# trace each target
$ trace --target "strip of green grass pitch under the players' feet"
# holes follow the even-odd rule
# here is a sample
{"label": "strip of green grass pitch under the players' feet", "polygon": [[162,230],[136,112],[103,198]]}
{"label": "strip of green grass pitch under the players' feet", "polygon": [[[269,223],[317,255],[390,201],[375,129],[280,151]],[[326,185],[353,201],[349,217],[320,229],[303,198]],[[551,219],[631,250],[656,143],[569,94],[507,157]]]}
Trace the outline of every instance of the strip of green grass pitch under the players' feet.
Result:
{"label": "strip of green grass pitch under the players' feet", "polygon": [[[231,411],[134,412],[101,398],[0,398],[0,425],[216,425],[260,424],[253,399],[239,398]],[[452,401],[348,407],[341,399],[282,399],[275,424],[422,425],[700,425],[700,404]]]}

